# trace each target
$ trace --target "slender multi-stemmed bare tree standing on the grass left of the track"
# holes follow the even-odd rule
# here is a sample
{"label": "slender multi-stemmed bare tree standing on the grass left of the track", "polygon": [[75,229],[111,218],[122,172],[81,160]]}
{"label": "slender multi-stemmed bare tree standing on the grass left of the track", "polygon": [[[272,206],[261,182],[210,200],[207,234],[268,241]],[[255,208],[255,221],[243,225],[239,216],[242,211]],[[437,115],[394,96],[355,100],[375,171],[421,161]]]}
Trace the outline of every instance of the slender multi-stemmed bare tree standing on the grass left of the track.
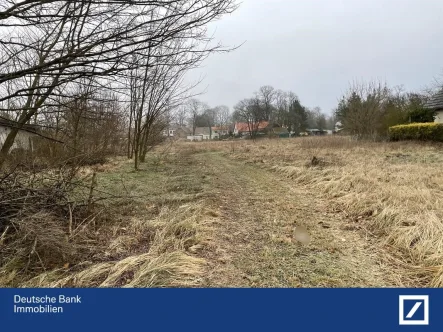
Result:
{"label": "slender multi-stemmed bare tree standing on the grass left of the track", "polygon": [[167,46],[149,49],[140,59],[135,57],[134,61],[144,65],[130,73],[130,109],[134,119],[132,146],[136,169],[139,161],[144,161],[149,147],[154,145],[152,143],[161,141],[159,137],[169,124],[170,110],[187,97],[190,87],[183,85],[184,74],[206,55],[204,52],[194,53],[181,40]]}

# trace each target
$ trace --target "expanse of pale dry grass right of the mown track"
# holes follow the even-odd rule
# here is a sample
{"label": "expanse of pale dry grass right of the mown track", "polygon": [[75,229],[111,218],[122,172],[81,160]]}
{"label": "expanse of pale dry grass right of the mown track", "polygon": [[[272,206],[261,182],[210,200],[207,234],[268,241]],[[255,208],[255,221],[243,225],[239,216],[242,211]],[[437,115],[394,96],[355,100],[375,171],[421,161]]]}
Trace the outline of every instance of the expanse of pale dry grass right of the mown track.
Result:
{"label": "expanse of pale dry grass right of the mown track", "polygon": [[405,285],[443,286],[442,145],[314,137],[199,148],[222,150],[327,197],[331,211],[380,239]]}

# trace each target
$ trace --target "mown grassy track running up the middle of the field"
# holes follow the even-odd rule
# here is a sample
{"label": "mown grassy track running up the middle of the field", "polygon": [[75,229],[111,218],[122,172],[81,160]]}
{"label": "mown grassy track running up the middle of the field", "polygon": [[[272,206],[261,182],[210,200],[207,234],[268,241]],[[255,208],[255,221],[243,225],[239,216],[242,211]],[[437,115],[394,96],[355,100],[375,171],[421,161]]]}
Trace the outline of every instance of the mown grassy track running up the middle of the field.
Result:
{"label": "mown grassy track running up the middle of the field", "polygon": [[[220,212],[207,286],[395,286],[370,239],[328,211],[320,195],[220,153],[194,157]],[[309,245],[293,239],[296,225],[308,229]]]}

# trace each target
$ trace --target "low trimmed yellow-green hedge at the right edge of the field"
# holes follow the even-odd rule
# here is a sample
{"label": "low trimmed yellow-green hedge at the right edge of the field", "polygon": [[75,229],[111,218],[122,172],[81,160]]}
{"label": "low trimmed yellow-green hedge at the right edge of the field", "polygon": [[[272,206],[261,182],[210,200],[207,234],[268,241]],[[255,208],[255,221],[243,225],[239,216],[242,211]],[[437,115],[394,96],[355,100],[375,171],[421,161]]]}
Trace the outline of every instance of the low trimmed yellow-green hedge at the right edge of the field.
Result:
{"label": "low trimmed yellow-green hedge at the right edge of the field", "polygon": [[389,127],[389,138],[392,141],[420,140],[443,142],[443,124],[428,122]]}

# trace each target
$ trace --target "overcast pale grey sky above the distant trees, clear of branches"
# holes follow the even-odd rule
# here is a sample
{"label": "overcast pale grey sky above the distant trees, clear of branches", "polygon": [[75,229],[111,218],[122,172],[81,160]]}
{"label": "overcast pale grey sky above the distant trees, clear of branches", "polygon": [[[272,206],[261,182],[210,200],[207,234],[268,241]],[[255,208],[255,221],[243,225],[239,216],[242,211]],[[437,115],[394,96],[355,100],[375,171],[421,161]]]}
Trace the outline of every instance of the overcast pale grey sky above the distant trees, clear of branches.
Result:
{"label": "overcast pale grey sky above the distant trees, clear of branches", "polygon": [[353,80],[420,90],[443,70],[441,0],[244,0],[214,27],[223,44],[246,43],[190,74],[211,106],[272,85],[330,113]]}

